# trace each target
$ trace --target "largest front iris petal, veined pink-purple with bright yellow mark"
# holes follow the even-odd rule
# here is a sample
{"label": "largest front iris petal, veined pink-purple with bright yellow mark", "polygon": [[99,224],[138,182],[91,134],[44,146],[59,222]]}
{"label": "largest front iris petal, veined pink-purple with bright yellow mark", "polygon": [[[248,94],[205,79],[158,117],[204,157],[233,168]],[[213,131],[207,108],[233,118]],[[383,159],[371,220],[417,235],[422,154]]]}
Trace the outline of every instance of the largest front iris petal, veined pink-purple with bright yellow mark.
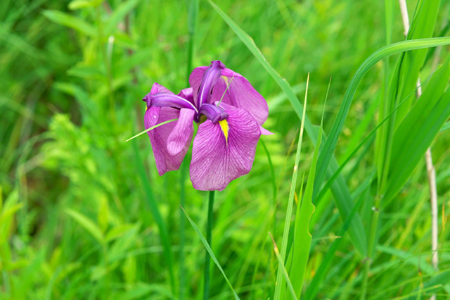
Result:
{"label": "largest front iris petal, veined pink-purple with bright yellow mark", "polygon": [[245,109],[227,111],[229,118],[198,128],[193,142],[191,181],[195,189],[222,190],[250,172],[261,135],[259,124]]}

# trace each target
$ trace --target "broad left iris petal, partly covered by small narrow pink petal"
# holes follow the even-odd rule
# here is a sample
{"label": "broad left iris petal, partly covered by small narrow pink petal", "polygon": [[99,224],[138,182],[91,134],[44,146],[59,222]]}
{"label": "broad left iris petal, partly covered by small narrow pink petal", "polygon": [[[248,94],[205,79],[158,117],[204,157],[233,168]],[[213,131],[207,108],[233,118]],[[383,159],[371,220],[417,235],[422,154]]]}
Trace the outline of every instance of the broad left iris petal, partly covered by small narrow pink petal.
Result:
{"label": "broad left iris petal, partly covered by small narrow pink petal", "polygon": [[[148,129],[167,120],[176,118],[179,118],[179,110],[176,108],[151,106],[147,109],[144,116],[144,125]],[[188,139],[184,148],[179,151],[179,154],[175,156],[170,155],[167,150],[167,139],[175,126],[175,122],[170,122],[147,132],[148,137],[150,137],[153,155],[155,156],[156,168],[158,169],[158,174],[161,176],[168,171],[179,169],[191,142]]]}

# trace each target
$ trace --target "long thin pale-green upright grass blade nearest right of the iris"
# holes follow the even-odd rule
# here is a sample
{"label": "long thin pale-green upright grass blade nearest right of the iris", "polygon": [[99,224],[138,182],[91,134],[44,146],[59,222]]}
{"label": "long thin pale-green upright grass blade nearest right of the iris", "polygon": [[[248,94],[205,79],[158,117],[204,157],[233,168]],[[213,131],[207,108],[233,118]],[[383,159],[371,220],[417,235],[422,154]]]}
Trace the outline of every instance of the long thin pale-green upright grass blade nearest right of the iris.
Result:
{"label": "long thin pale-green upright grass blade nearest right of the iris", "polygon": [[[304,116],[306,115],[307,98],[308,98],[308,85],[309,85],[309,74],[308,74],[308,78],[307,78],[307,88],[304,92],[302,125],[300,125],[300,135],[299,135],[298,143],[297,143],[297,153],[295,154],[295,165],[294,165],[294,170],[293,170],[293,177],[292,177],[292,182],[290,183],[288,208],[286,211],[286,217],[285,217],[285,221],[284,221],[283,239],[281,241],[281,261],[283,262],[283,264],[285,262],[286,250],[288,249],[290,219],[293,214],[295,187],[297,185],[297,177],[298,177],[297,176],[298,164],[300,163],[300,152],[302,150],[303,130],[304,130],[304,120],[305,120]],[[282,289],[284,289],[283,268],[278,267],[278,273],[276,275],[276,287],[275,287],[274,300],[280,299]]]}

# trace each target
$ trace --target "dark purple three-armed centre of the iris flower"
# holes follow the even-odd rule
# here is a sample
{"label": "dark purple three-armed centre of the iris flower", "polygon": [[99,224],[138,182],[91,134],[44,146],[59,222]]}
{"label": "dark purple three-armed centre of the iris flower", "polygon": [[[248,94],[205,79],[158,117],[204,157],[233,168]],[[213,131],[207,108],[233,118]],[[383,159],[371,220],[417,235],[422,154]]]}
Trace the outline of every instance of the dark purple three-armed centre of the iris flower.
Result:
{"label": "dark purple three-armed centre of the iris flower", "polygon": [[193,99],[192,92],[186,89],[181,91],[179,95],[169,93],[148,94],[143,101],[146,101],[147,108],[150,106],[172,107],[172,108],[189,108],[195,111],[195,122],[200,122],[200,115],[205,117],[212,123],[216,124],[221,120],[226,120],[229,114],[223,108],[210,104],[212,89],[216,85],[217,80],[221,76],[222,69],[225,65],[221,61],[212,61],[211,65],[205,70],[202,77],[200,87],[198,87],[197,101]]}

